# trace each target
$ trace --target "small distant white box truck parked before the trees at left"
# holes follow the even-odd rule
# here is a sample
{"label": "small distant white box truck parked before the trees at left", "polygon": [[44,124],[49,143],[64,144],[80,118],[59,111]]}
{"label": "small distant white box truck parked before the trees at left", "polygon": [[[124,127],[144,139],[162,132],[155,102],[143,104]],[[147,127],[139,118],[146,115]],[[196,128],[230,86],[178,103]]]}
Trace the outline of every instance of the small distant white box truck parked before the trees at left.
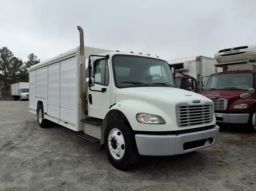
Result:
{"label": "small distant white box truck parked before the trees at left", "polygon": [[28,100],[29,98],[29,83],[17,82],[11,84],[11,97],[13,100],[20,99],[20,101]]}

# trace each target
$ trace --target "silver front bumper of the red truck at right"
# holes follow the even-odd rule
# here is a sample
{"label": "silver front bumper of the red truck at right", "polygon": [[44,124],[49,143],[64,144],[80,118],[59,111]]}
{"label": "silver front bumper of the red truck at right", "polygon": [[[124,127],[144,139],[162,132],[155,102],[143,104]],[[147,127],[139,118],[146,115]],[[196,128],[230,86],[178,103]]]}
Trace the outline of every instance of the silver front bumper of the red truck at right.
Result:
{"label": "silver front bumper of the red truck at right", "polygon": [[214,113],[217,123],[248,123],[250,114]]}

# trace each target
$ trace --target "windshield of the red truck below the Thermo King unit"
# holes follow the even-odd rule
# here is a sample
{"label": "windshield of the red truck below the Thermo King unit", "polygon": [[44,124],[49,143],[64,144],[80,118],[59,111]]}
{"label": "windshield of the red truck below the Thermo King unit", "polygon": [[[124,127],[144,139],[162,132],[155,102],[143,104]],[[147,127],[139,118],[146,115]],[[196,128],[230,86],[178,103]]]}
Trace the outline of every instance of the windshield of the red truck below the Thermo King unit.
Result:
{"label": "windshield of the red truck below the Thermo King unit", "polygon": [[206,91],[212,89],[237,89],[247,91],[252,87],[253,73],[236,72],[211,75],[206,85]]}

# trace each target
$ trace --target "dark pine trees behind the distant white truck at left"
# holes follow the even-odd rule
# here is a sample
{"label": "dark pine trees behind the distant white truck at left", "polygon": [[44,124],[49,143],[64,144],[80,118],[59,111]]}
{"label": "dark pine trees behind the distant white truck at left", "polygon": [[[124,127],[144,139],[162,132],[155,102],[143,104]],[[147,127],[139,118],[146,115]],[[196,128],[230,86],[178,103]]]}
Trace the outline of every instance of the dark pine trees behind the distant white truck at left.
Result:
{"label": "dark pine trees behind the distant white truck at left", "polygon": [[28,68],[40,62],[33,53],[27,62],[15,57],[6,46],[0,48],[0,81],[5,83],[28,82]]}

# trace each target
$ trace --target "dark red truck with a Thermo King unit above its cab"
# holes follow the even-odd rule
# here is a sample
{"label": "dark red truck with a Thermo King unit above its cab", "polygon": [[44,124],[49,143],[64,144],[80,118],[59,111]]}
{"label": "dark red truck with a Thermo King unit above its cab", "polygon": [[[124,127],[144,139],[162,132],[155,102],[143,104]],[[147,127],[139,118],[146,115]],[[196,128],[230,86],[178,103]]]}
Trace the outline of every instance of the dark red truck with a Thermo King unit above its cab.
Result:
{"label": "dark red truck with a Thermo King unit above its cab", "polygon": [[222,49],[217,51],[214,57],[215,67],[223,68],[223,72],[202,78],[202,95],[214,102],[214,113],[218,123],[240,123],[250,132],[254,132],[256,46]]}

